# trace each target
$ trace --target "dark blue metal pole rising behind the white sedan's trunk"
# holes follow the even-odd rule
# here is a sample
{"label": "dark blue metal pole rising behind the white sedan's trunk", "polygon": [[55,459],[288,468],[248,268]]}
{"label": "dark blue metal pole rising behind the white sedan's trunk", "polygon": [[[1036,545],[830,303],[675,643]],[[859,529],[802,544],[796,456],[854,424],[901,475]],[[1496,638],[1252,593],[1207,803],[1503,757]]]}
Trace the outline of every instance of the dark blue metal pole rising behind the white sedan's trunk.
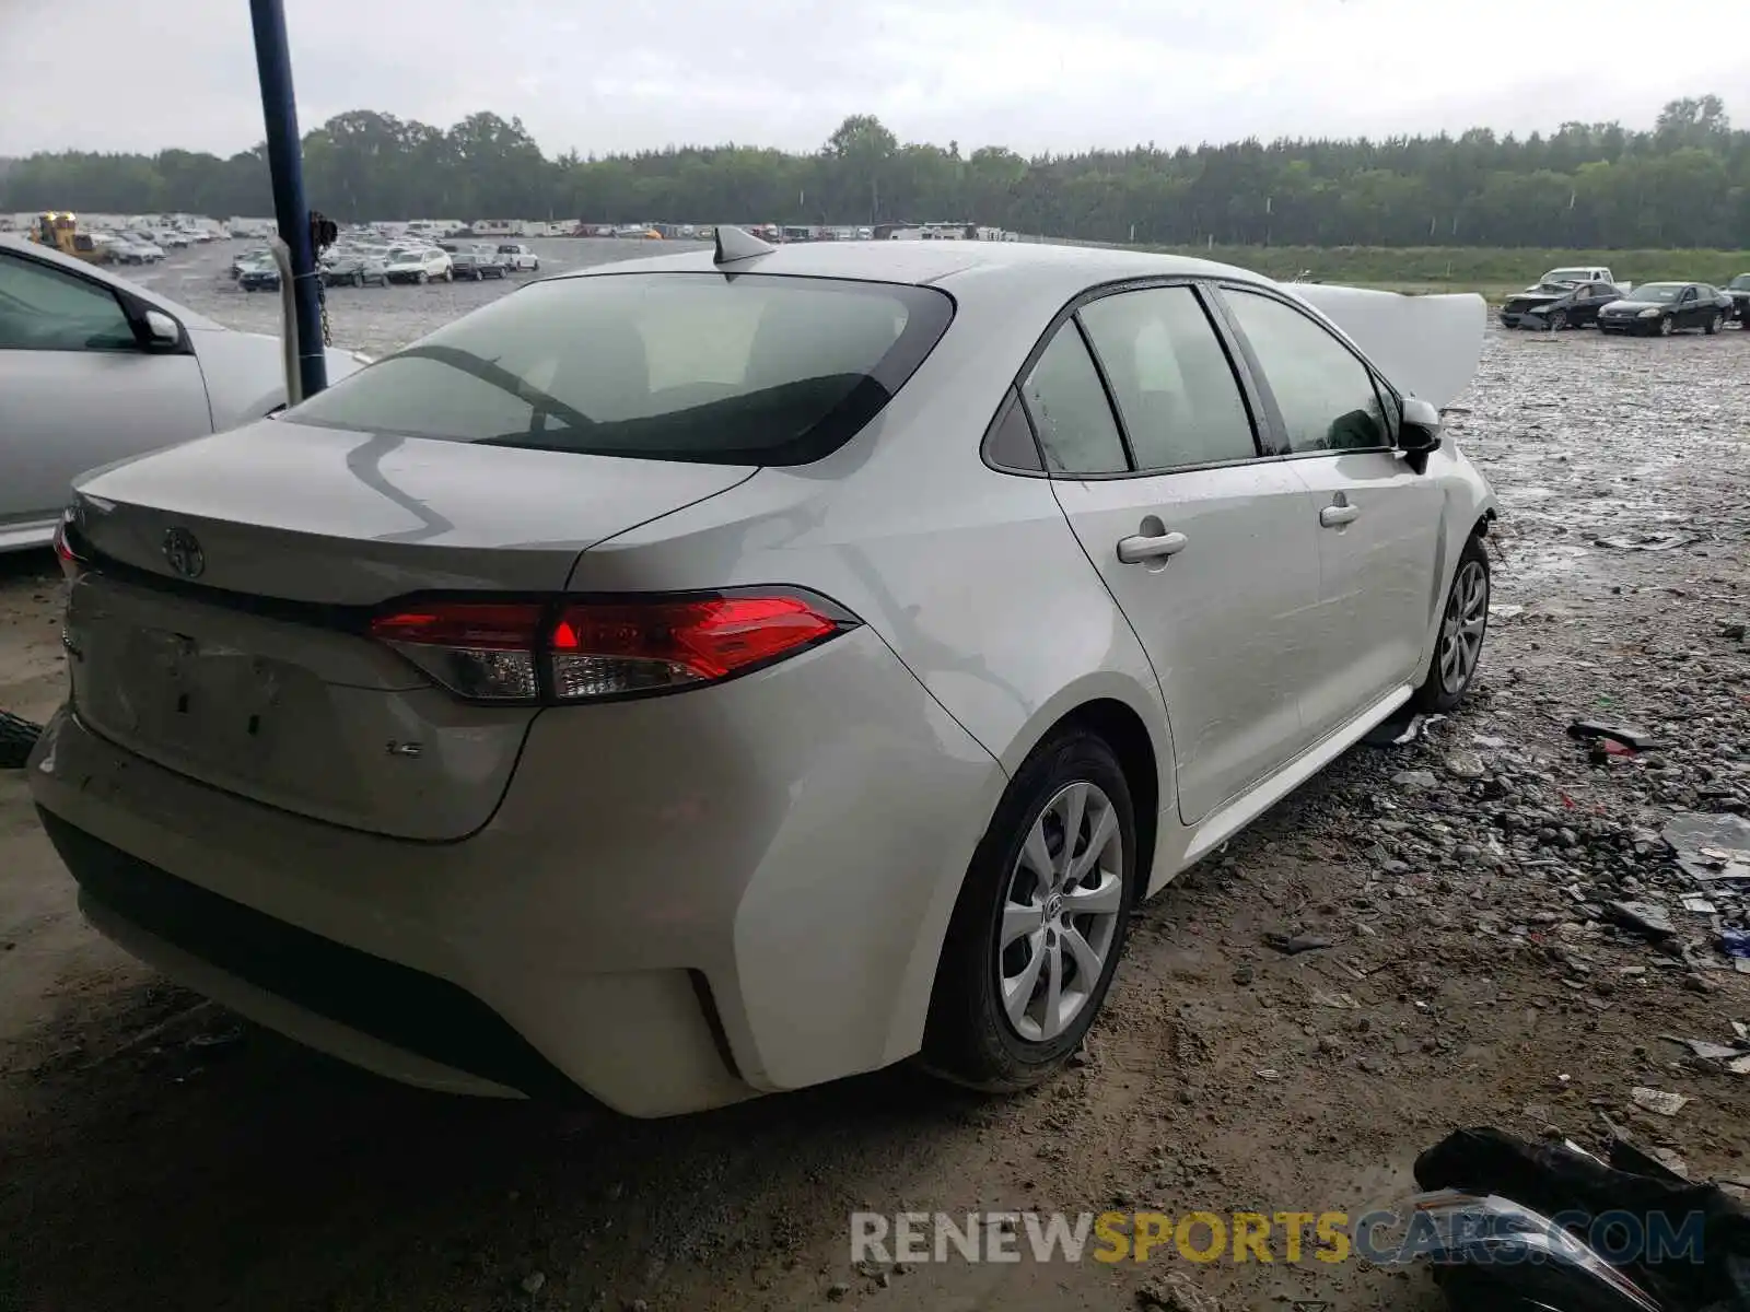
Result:
{"label": "dark blue metal pole rising behind the white sedan's trunk", "polygon": [[248,16],[256,26],[261,115],[268,124],[273,217],[280,224],[280,240],[292,252],[298,374],[308,397],[327,387],[327,355],[322,350],[322,311],[317,303],[317,259],[310,247],[310,206],[304,203],[303,145],[298,140],[298,101],[292,96],[292,52],[285,40],[282,0],[248,0]]}

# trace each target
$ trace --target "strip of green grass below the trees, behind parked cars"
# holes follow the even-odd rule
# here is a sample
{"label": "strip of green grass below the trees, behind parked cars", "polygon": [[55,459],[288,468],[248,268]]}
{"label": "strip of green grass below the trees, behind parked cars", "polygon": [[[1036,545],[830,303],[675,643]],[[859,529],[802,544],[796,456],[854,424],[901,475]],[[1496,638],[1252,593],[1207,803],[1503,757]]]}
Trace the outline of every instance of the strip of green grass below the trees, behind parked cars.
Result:
{"label": "strip of green grass below the trees, behind parked cars", "polygon": [[1318,282],[1393,292],[1482,292],[1500,299],[1545,269],[1603,264],[1628,282],[1698,280],[1724,285],[1750,273],[1750,250],[1536,250],[1502,247],[1152,247]]}

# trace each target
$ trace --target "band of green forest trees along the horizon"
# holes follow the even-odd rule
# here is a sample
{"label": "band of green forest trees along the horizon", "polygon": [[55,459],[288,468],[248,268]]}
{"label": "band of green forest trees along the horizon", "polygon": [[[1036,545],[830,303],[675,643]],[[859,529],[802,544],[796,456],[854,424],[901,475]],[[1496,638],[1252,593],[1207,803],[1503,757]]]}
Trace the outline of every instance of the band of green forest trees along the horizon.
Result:
{"label": "band of green forest trees along the horizon", "polygon": [[[474,114],[450,129],[374,110],[304,136],[310,203],[341,220],[870,224],[968,220],[1092,241],[1200,247],[1750,247],[1750,131],[1718,96],[1650,128],[1278,140],[1024,157],[901,143],[852,115],[812,154],[751,145],[548,157]],[[266,150],[37,154],[0,210],[271,213]]]}

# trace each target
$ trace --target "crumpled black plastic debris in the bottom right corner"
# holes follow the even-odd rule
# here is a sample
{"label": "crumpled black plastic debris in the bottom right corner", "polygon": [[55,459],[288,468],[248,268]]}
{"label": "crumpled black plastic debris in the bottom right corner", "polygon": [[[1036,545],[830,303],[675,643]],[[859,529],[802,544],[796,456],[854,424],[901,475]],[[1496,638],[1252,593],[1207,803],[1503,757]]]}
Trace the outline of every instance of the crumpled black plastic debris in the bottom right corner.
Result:
{"label": "crumpled black plastic debris in the bottom right corner", "polygon": [[[1424,1190],[1493,1195],[1559,1219],[1594,1263],[1442,1263],[1435,1282],[1461,1312],[1750,1312],[1750,1211],[1617,1139],[1610,1160],[1493,1128],[1458,1130],[1416,1158]],[[1642,1237],[1634,1239],[1634,1232]],[[1648,1237],[1673,1242],[1656,1244]],[[1664,1247],[1664,1253],[1657,1249]],[[1596,1260],[1642,1298],[1603,1279]]]}

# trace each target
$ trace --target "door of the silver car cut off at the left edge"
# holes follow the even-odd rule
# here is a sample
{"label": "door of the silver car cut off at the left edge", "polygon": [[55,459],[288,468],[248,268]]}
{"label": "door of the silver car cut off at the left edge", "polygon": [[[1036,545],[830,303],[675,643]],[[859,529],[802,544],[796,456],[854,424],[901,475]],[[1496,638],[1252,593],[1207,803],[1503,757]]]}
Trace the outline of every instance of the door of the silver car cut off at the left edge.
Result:
{"label": "door of the silver car cut off at the left edge", "polygon": [[107,283],[0,250],[0,546],[40,537],[84,471],[212,432],[186,334],[142,341]]}

